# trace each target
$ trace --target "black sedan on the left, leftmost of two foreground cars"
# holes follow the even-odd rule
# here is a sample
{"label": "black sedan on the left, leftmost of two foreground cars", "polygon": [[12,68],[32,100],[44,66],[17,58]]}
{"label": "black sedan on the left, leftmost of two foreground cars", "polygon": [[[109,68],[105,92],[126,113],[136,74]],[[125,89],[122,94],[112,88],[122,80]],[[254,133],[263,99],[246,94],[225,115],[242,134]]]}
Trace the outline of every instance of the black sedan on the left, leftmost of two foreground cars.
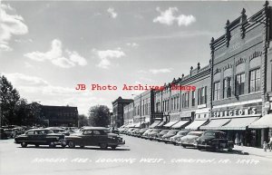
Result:
{"label": "black sedan on the left, leftmost of two foreground cars", "polygon": [[64,135],[53,133],[53,131],[49,129],[33,129],[26,131],[24,134],[15,137],[15,143],[21,144],[23,148],[27,147],[28,144],[35,145],[35,147],[49,145],[52,148],[56,145],[61,145],[63,148],[66,146]]}

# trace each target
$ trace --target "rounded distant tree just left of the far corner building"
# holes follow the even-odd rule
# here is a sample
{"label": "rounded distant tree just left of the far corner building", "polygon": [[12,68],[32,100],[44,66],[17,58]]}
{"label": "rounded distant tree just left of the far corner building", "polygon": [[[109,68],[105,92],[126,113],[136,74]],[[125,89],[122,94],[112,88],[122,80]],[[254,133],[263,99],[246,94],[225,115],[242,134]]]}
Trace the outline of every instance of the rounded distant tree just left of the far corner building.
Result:
{"label": "rounded distant tree just left of the far corner building", "polygon": [[105,105],[92,106],[89,110],[89,122],[91,126],[109,125],[110,109]]}

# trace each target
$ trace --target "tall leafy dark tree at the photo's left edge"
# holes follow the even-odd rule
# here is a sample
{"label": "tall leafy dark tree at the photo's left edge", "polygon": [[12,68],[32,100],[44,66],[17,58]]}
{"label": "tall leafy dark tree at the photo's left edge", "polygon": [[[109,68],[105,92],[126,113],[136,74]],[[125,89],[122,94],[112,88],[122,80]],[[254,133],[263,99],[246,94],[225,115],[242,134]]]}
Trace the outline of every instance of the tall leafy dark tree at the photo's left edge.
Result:
{"label": "tall leafy dark tree at the photo's left edge", "polygon": [[15,106],[20,100],[19,92],[8,82],[4,75],[0,76],[1,96],[1,126],[18,122],[15,114]]}

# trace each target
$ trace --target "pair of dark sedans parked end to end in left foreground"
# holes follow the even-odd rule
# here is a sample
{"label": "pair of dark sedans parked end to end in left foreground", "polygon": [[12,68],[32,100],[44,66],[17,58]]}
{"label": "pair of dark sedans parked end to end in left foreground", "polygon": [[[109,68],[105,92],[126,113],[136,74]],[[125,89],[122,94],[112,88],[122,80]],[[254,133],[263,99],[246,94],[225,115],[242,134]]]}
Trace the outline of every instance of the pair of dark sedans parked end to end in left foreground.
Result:
{"label": "pair of dark sedans parked end to end in left foreground", "polygon": [[102,149],[111,147],[112,150],[117,146],[125,144],[125,141],[108,128],[104,127],[84,127],[76,130],[63,130],[63,128],[38,128],[25,131],[24,134],[15,137],[15,143],[21,144],[23,148],[28,145],[39,147],[48,145],[51,148],[60,145],[65,148],[81,148],[85,146],[99,146]]}

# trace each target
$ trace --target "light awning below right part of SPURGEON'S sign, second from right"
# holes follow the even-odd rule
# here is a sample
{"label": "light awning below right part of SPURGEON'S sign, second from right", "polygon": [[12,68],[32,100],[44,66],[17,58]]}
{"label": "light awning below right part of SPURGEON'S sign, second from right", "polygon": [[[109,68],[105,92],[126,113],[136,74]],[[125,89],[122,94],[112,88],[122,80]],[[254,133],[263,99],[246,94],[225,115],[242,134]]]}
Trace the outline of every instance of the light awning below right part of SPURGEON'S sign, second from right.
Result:
{"label": "light awning below right part of SPURGEON'S sign, second from right", "polygon": [[248,125],[257,119],[258,117],[234,118],[228,124],[222,126],[221,130],[246,130]]}

